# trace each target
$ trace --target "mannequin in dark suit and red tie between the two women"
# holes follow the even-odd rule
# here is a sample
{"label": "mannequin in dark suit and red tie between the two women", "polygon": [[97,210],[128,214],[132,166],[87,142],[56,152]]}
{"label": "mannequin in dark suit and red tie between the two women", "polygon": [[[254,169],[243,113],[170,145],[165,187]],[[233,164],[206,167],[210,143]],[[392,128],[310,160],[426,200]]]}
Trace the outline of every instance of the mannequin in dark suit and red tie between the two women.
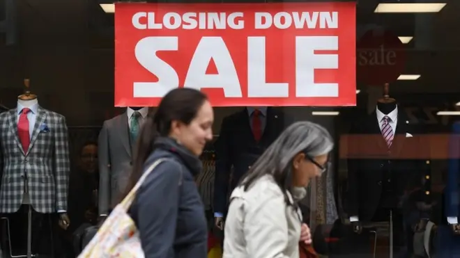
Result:
{"label": "mannequin in dark suit and red tie between the two women", "polygon": [[252,163],[292,122],[288,115],[272,107],[246,107],[222,120],[220,136],[215,143],[214,216],[217,227],[223,229],[229,193]]}

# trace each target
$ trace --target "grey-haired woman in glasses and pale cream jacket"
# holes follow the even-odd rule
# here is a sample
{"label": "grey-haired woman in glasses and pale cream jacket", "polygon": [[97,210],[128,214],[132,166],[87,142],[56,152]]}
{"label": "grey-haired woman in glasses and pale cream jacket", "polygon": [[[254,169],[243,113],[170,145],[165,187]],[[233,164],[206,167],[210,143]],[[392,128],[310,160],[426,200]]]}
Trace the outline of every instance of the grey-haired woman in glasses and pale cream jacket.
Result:
{"label": "grey-haired woman in glasses and pale cream jacket", "polygon": [[297,202],[327,169],[333,146],[319,124],[296,122],[284,130],[231,193],[224,258],[299,257],[299,242],[312,240]]}

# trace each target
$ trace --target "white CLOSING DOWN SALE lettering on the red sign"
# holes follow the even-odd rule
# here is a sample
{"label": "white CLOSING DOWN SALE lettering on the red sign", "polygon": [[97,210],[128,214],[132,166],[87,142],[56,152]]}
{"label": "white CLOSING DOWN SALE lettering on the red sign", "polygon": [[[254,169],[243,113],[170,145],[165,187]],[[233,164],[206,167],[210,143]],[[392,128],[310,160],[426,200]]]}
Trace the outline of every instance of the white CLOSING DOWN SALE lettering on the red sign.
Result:
{"label": "white CLOSING DOWN SALE lettering on the red sign", "polygon": [[[337,29],[337,12],[254,13],[254,28],[269,29]],[[162,21],[157,23],[158,21]],[[166,13],[155,19],[155,13],[135,13],[132,25],[136,29],[244,29],[243,13]],[[163,97],[179,87],[176,69],[156,54],[157,51],[178,51],[175,36],[142,38],[135,46],[137,61],[158,77],[157,82],[134,82],[134,97]],[[186,40],[186,39],[184,39]],[[317,54],[316,51],[337,51],[335,35],[295,36],[296,97],[339,97],[338,83],[315,83],[314,71],[338,69],[338,54]],[[289,83],[266,80],[266,37],[247,36],[247,78],[239,78],[237,67],[219,36],[201,37],[185,74],[184,87],[222,88],[225,97],[243,97],[241,84],[247,84],[247,97],[289,97]],[[217,74],[206,74],[214,61]],[[185,61],[187,62],[187,61]]]}

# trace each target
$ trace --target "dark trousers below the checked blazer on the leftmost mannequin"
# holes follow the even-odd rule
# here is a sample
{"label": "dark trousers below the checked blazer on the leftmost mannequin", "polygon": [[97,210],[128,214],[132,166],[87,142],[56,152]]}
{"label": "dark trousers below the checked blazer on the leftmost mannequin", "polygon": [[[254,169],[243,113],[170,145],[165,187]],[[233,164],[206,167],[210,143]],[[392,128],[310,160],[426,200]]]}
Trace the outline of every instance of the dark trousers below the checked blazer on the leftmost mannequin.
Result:
{"label": "dark trousers below the checked blazer on the leftmost mannequin", "polygon": [[[3,258],[15,255],[27,254],[27,230],[28,230],[29,205],[21,205],[15,213],[3,213],[1,218],[1,249]],[[45,255],[45,257],[61,257],[58,226],[59,215],[57,213],[38,213],[32,209],[32,254]],[[8,230],[9,224],[9,230]],[[9,236],[8,236],[9,231]],[[10,242],[8,242],[8,239]],[[58,241],[58,242],[56,242]],[[11,252],[10,252],[11,246]]]}

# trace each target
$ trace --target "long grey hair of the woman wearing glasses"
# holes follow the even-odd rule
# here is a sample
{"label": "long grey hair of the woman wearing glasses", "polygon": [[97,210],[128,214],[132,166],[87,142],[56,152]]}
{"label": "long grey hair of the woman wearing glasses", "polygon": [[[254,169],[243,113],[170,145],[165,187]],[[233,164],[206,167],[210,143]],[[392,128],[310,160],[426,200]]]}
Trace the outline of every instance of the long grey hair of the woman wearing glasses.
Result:
{"label": "long grey hair of the woman wearing glasses", "polygon": [[314,158],[328,154],[334,143],[329,132],[314,122],[295,122],[286,128],[241,179],[245,190],[263,175],[273,175],[283,193],[291,189],[291,163],[300,152]]}

